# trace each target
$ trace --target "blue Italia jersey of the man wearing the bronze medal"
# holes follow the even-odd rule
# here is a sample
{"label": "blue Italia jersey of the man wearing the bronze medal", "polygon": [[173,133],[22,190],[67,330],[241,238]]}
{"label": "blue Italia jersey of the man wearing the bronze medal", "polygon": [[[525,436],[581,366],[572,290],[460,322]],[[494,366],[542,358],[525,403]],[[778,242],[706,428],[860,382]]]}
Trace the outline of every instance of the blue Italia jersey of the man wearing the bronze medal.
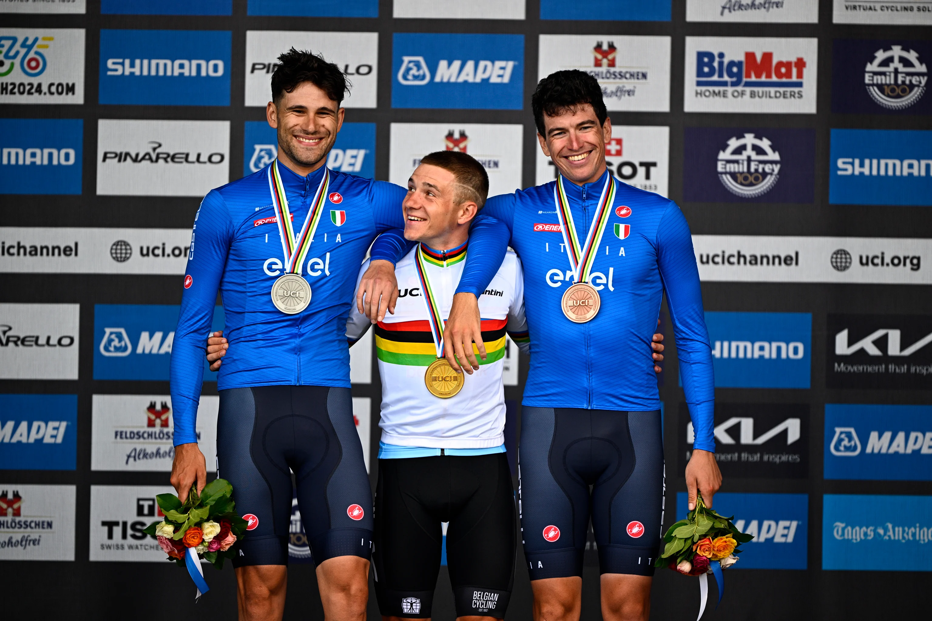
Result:
{"label": "blue Italia jersey of the man wearing the bronze medal", "polygon": [[[582,186],[564,184],[581,240],[608,174]],[[712,355],[689,226],[673,201],[616,183],[590,278],[601,307],[588,323],[572,323],[561,311],[561,297],[573,277],[556,216],[555,182],[493,196],[483,208],[511,230],[511,246],[524,264],[530,368],[522,402],[544,408],[659,410],[651,336],[666,290],[695,429],[693,446],[715,451]]]}

